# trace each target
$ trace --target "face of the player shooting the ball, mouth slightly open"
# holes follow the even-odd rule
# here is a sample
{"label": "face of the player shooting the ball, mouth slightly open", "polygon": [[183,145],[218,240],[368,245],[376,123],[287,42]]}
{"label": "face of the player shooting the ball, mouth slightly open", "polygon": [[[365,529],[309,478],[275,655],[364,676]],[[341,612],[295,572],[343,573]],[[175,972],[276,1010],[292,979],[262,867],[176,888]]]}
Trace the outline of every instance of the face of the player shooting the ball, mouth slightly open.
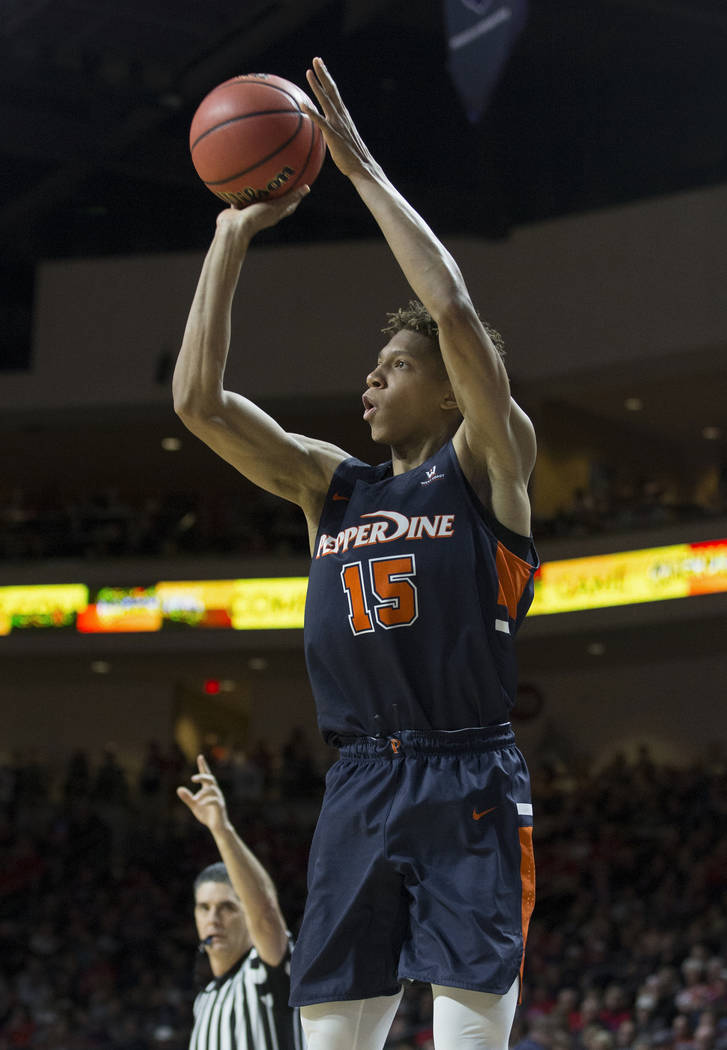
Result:
{"label": "face of the player shooting the ball, mouth slightly open", "polygon": [[371,437],[394,446],[424,438],[438,427],[451,391],[432,340],[409,329],[392,336],[366,384],[364,419]]}

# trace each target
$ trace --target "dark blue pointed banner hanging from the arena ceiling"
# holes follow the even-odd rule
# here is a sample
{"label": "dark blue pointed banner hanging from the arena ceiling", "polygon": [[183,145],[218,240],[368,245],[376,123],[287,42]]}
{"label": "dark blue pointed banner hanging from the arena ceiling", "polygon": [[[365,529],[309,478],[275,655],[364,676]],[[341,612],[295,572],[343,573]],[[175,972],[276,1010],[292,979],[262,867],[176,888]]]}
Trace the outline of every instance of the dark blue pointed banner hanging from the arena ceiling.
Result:
{"label": "dark blue pointed banner hanging from the arena ceiling", "polygon": [[444,0],[450,76],[468,119],[484,112],[527,19],[527,0]]}

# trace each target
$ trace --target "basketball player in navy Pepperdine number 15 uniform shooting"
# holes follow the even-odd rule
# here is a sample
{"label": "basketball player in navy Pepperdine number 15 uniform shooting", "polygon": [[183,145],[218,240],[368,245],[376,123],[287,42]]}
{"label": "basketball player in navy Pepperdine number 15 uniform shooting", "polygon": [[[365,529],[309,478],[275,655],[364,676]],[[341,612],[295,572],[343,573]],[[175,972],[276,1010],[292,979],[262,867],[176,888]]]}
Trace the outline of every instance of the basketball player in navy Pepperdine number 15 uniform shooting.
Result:
{"label": "basketball player in navy Pepperdine number 15 uniform shooting", "polygon": [[310,1050],[377,1050],[402,981],[424,981],[437,1050],[505,1050],[535,894],[529,781],[507,721],[537,566],[535,435],[454,259],[374,161],[319,59],[307,76],[321,110],[310,116],[417,296],[390,315],[366,380],[364,419],[391,461],[286,433],[224,387],[250,240],[305,188],[220,215],[174,374],[187,426],[308,522],[306,656],[340,757],[291,1002]]}

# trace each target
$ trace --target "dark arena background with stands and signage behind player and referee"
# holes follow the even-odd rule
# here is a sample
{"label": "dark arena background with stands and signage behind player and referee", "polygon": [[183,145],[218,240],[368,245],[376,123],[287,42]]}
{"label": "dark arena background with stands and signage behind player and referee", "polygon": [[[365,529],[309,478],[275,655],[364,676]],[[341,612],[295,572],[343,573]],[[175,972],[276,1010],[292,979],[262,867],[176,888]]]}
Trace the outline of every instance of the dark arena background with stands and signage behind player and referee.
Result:
{"label": "dark arena background with stands and signage behind player and referee", "polygon": [[[220,209],[194,109],[237,74],[303,86],[314,55],[503,333],[538,433],[513,1046],[727,1050],[727,3],[461,4],[525,18],[479,114],[453,6],[3,0],[1,1050],[186,1047],[190,884],[216,857],[174,788],[200,750],[299,923],[334,757],[303,518],[183,428],[170,379]],[[408,289],[330,159],[245,289],[228,385],[383,458],[360,392]],[[432,1046],[427,988],[388,1046]]]}

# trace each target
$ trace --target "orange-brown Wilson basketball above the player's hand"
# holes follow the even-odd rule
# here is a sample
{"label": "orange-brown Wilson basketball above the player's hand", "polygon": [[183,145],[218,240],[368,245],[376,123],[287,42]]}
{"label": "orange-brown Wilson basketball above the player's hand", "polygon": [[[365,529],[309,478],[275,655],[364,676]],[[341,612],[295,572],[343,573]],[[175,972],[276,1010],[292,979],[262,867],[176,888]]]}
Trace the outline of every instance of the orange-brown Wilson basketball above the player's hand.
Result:
{"label": "orange-brown Wilson basketball above the player's hand", "polygon": [[290,81],[257,72],[205,96],[189,129],[192,164],[205,186],[237,207],[310,186],[326,141],[300,102],[312,105]]}

